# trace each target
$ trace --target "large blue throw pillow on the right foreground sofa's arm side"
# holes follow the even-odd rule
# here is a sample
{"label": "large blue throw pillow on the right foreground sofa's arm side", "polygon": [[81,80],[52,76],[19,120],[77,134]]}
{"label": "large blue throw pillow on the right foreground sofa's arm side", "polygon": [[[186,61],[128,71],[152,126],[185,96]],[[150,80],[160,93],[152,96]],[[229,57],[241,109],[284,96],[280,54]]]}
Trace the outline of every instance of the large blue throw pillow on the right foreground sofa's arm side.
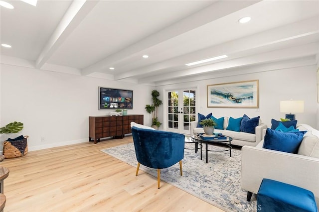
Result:
{"label": "large blue throw pillow on the right foreground sofa's arm side", "polygon": [[296,153],[306,132],[281,132],[267,128],[263,148]]}

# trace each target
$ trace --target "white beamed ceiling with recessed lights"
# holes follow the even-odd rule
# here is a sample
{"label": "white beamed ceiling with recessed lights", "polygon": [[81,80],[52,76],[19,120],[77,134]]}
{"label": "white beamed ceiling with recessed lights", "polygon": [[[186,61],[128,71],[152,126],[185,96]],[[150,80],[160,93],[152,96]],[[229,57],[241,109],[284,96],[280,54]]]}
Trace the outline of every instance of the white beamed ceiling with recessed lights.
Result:
{"label": "white beamed ceiling with recessed lights", "polygon": [[15,8],[0,8],[0,42],[12,47],[1,63],[154,86],[318,63],[319,0],[6,1]]}

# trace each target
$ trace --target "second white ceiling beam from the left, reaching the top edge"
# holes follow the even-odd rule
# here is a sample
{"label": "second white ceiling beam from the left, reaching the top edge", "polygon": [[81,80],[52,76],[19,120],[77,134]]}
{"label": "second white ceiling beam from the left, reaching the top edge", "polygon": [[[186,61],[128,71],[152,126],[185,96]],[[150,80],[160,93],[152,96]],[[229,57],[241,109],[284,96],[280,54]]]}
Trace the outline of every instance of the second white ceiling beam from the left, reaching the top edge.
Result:
{"label": "second white ceiling beam from the left, reaching the top edge", "polygon": [[88,75],[93,72],[103,71],[112,66],[112,64],[121,62],[133,54],[141,52],[144,49],[150,48],[167,39],[171,39],[175,36],[181,35],[185,32],[193,30],[204,24],[207,24],[213,20],[221,18],[225,15],[231,14],[235,11],[248,7],[261,0],[250,1],[217,1],[209,6],[201,9],[200,11],[187,16],[186,18],[177,21],[170,26],[161,29],[160,31],[141,39],[137,43],[132,44],[128,48],[120,50],[84,69],[82,69],[82,75]]}

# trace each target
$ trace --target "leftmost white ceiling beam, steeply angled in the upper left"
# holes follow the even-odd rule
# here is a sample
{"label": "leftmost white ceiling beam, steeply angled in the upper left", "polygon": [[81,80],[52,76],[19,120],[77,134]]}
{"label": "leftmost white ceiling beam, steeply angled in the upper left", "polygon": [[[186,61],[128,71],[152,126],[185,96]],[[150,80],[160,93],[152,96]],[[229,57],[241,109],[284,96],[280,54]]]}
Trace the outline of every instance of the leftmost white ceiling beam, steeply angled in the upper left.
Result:
{"label": "leftmost white ceiling beam, steeply angled in the upper left", "polygon": [[35,61],[35,68],[40,69],[63,43],[83,18],[98,3],[98,0],[73,0],[62,20]]}

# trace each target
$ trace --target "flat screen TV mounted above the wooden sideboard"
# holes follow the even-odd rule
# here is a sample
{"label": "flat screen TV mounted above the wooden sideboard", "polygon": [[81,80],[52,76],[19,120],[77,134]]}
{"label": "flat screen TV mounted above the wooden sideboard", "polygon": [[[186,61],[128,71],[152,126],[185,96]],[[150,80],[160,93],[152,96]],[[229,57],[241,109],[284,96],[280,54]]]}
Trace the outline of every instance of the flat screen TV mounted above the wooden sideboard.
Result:
{"label": "flat screen TV mounted above the wooden sideboard", "polygon": [[99,109],[133,109],[133,91],[99,87]]}

